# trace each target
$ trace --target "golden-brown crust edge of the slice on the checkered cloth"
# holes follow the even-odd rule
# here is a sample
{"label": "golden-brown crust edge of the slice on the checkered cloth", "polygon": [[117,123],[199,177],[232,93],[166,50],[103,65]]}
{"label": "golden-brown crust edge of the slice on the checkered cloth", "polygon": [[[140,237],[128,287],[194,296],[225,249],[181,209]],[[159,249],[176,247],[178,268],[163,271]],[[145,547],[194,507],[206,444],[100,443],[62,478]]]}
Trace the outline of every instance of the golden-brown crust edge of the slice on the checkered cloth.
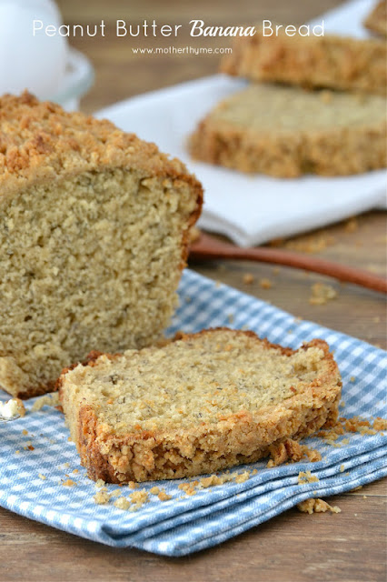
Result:
{"label": "golden-brown crust edge of the slice on the checkered cloth", "polygon": [[[212,331],[204,330],[199,335]],[[253,332],[234,333],[252,336],[262,341],[264,348],[277,349],[285,356],[294,353],[290,348],[259,340]],[[181,334],[175,339],[189,341],[196,336]],[[114,435],[112,427],[106,431],[90,404],[80,402],[74,407],[67,393],[65,370],[58,381],[59,397],[89,477],[110,483],[193,477],[254,462],[286,438],[307,437],[322,426],[333,425],[341,396],[340,373],[329,346],[322,340],[315,339],[300,349],[312,346],[323,350],[324,372],[302,393],[280,404],[265,406],[257,413],[242,410],[224,416],[215,425],[202,422],[174,430],[139,427],[119,436]]]}

